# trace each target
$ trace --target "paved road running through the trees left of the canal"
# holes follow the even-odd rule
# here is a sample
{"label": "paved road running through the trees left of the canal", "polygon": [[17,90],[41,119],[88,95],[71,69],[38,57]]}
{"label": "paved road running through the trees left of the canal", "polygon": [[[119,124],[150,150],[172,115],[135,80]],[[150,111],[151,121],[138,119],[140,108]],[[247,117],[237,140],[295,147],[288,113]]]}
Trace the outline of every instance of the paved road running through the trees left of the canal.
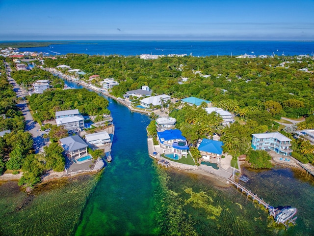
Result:
{"label": "paved road running through the trees left of the canal", "polygon": [[[6,63],[6,62],[5,62]],[[48,145],[48,140],[43,138],[43,131],[40,131],[40,125],[35,122],[30,114],[30,111],[27,107],[25,96],[27,92],[20,88],[20,86],[12,79],[11,77],[11,68],[6,64],[7,68],[7,78],[11,85],[13,85],[13,90],[16,92],[16,96],[22,98],[17,106],[21,109],[23,116],[25,117],[26,121],[26,128],[25,131],[28,131],[34,140],[33,148],[35,149],[35,153],[43,151],[44,146]],[[38,131],[39,130],[39,131]]]}

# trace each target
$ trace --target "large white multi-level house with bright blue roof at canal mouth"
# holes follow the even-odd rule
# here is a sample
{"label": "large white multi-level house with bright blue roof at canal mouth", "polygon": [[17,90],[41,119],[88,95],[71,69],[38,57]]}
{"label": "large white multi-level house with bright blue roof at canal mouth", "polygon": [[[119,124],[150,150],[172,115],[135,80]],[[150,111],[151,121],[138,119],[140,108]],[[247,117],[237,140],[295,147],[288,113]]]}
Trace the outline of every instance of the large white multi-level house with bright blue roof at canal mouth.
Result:
{"label": "large white multi-level house with bright blue roof at canal mouth", "polygon": [[182,156],[187,156],[189,147],[185,137],[179,129],[170,129],[162,132],[157,132],[158,143],[164,151],[173,153],[174,157],[181,159]]}

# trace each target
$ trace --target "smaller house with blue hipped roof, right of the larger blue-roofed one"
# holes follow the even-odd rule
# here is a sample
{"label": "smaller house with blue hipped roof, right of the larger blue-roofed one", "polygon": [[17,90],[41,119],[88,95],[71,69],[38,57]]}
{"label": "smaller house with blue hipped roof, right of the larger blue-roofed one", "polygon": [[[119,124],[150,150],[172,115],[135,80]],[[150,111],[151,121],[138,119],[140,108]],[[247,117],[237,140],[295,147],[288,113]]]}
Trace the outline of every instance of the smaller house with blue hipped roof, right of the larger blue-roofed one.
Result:
{"label": "smaller house with blue hipped roof, right of the larger blue-roofed one", "polygon": [[210,158],[221,158],[222,156],[222,146],[223,142],[211,140],[211,139],[203,139],[200,145],[198,146],[198,150],[200,151],[203,159],[205,161],[209,161]]}

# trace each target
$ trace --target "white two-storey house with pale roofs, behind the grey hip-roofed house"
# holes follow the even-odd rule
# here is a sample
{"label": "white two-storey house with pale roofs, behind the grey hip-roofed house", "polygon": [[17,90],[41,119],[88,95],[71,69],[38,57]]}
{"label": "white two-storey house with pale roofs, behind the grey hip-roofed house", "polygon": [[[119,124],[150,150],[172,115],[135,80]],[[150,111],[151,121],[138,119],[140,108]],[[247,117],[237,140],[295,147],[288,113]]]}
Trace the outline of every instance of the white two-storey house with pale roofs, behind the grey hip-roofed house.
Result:
{"label": "white two-storey house with pale roofs, behind the grey hip-roofed house", "polygon": [[55,122],[57,126],[62,125],[71,132],[80,132],[84,129],[84,118],[78,109],[55,112]]}

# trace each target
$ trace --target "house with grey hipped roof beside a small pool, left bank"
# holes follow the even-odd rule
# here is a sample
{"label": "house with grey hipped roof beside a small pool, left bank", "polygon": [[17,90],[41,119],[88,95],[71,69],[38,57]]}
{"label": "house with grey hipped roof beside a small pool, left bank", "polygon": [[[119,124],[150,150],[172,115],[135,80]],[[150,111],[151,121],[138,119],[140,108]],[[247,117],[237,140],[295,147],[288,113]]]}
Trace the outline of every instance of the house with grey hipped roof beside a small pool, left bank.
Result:
{"label": "house with grey hipped roof beside a small pool, left bank", "polygon": [[78,135],[59,139],[59,143],[66,155],[71,156],[71,158],[78,158],[88,154],[88,145]]}

